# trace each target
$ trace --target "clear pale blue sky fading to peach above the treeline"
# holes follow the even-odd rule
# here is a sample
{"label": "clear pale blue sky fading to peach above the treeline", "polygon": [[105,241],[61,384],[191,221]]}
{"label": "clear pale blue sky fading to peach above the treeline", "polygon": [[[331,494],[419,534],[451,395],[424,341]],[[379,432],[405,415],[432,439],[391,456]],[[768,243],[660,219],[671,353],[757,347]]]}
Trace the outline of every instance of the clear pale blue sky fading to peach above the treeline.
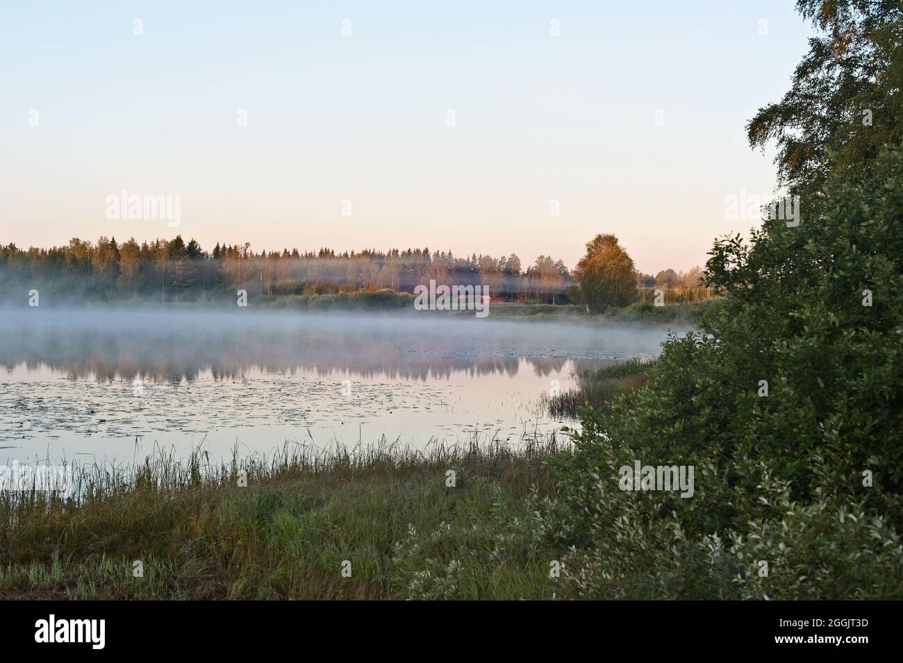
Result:
{"label": "clear pale blue sky fading to peach above the treeline", "polygon": [[[573,267],[614,233],[639,270],[686,270],[758,226],[726,211],[775,187],[744,125],[811,34],[791,0],[0,0],[0,243]],[[178,200],[178,226],[110,218],[123,189]]]}

